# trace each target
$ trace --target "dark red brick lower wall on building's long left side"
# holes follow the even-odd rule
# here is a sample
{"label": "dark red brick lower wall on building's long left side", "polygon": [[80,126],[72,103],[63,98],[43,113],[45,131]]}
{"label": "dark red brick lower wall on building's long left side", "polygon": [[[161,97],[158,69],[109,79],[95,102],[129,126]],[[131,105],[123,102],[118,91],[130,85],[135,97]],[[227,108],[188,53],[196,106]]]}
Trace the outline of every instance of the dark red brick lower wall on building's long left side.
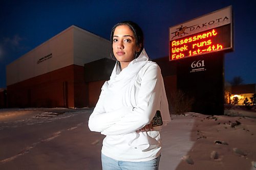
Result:
{"label": "dark red brick lower wall on building's long left side", "polygon": [[[75,107],[74,67],[70,65],[47,74],[7,86],[9,107]],[[81,66],[78,66],[81,67]],[[79,68],[83,70],[83,68]],[[83,73],[83,71],[81,71]],[[64,84],[67,90],[65,94]],[[82,83],[82,82],[80,82]],[[65,95],[68,105],[65,106]]]}

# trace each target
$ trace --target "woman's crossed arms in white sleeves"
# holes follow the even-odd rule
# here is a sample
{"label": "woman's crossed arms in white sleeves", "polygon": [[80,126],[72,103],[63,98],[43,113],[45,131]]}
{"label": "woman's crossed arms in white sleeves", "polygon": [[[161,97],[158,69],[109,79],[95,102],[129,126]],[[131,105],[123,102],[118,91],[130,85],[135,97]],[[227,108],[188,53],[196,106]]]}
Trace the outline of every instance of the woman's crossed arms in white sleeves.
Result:
{"label": "woman's crossed arms in white sleeves", "polygon": [[118,110],[105,112],[103,108],[104,93],[101,91],[99,101],[89,118],[91,131],[103,135],[121,135],[132,132],[153,130],[150,122],[160,107],[161,71],[158,65],[147,68],[141,78],[138,93],[138,104],[135,108],[122,107]]}

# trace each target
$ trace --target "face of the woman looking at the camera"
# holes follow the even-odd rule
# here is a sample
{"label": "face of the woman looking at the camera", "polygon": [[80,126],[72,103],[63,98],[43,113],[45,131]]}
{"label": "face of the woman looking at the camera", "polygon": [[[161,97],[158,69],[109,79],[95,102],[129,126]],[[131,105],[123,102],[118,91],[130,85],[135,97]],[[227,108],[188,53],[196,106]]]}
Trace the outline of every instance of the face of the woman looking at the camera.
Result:
{"label": "face of the woman looking at the camera", "polygon": [[119,62],[131,62],[139,52],[133,31],[126,25],[116,27],[113,36],[113,52]]}

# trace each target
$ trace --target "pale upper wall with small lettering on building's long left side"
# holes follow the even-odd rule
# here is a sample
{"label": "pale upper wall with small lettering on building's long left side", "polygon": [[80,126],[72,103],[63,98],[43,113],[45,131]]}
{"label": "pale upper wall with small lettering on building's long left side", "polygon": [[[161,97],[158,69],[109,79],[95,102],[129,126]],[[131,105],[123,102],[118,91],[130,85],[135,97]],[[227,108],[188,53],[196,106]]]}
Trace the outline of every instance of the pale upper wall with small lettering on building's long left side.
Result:
{"label": "pale upper wall with small lettering on building's long left side", "polygon": [[74,64],[73,27],[7,65],[7,85]]}

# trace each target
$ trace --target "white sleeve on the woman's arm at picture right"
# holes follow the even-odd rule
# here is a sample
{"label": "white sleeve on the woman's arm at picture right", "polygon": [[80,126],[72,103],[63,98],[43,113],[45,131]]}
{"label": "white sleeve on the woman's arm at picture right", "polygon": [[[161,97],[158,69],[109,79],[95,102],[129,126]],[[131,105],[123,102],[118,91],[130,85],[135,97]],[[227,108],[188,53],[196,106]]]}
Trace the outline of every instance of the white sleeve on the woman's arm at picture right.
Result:
{"label": "white sleeve on the woman's arm at picture right", "polygon": [[121,135],[135,132],[149,124],[160,108],[162,75],[157,64],[152,64],[141,75],[137,106],[120,120],[101,132],[103,135]]}

